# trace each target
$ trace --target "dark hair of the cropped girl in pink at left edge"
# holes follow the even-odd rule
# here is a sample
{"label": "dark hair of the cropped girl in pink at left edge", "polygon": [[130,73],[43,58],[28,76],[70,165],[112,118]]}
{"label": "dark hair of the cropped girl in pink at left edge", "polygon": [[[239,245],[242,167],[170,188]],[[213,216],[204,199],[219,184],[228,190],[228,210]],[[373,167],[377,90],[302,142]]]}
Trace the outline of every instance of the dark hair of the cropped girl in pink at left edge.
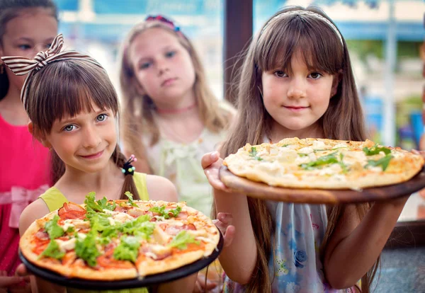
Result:
{"label": "dark hair of the cropped girl in pink at left edge", "polygon": [[[57,7],[52,0],[0,0],[0,45],[3,46],[3,35],[6,24],[19,15],[24,9],[47,8],[58,21]],[[0,100],[6,96],[9,87],[6,70],[0,74]]]}

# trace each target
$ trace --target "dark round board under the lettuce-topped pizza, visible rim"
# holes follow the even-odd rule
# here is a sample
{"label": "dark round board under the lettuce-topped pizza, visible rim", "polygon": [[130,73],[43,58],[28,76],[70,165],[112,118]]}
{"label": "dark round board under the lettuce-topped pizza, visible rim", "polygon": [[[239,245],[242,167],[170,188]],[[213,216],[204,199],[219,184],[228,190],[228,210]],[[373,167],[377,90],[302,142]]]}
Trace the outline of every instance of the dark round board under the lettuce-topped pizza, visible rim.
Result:
{"label": "dark round board under the lettuce-topped pizza, visible rim", "polygon": [[212,253],[206,258],[201,258],[200,260],[196,260],[193,263],[184,265],[181,268],[176,268],[167,272],[162,272],[155,275],[147,275],[143,278],[118,281],[97,281],[64,277],[62,275],[59,275],[57,272],[41,268],[38,265],[31,263],[25,258],[21,250],[19,250],[18,254],[19,258],[21,258],[23,264],[26,265],[26,268],[28,268],[30,272],[33,272],[34,275],[57,285],[86,290],[118,290],[159,285],[162,283],[181,279],[182,277],[187,277],[188,275],[192,275],[193,273],[198,272],[203,268],[207,267],[216,258],[218,258],[218,255],[220,255],[220,252],[222,251],[223,245],[224,238],[220,233],[220,241],[217,244],[217,248],[215,248],[215,250],[212,251]]}

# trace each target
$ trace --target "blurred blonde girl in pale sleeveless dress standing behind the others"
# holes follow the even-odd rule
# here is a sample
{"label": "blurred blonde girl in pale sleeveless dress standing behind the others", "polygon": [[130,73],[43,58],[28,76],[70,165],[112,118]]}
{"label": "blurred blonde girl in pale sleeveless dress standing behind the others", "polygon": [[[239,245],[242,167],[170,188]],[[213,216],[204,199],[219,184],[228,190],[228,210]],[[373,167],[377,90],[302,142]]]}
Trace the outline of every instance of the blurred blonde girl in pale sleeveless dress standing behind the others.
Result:
{"label": "blurred blonde girl in pale sleeveless dress standing behind the others", "polygon": [[210,91],[191,41],[164,16],[147,17],[123,43],[120,86],[123,149],[136,168],[169,178],[179,201],[210,215],[199,162],[225,138],[234,109]]}

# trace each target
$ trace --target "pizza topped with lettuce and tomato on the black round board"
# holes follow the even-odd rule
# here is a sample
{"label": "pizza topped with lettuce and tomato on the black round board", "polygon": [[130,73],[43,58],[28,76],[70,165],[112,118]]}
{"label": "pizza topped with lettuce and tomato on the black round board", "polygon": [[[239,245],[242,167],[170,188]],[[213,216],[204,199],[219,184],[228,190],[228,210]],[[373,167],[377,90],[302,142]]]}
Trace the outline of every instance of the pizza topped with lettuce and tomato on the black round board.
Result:
{"label": "pizza topped with lettuce and tomato on the black round board", "polygon": [[220,232],[184,202],[72,202],[38,219],[19,246],[25,258],[66,277],[125,280],[180,268],[207,257]]}

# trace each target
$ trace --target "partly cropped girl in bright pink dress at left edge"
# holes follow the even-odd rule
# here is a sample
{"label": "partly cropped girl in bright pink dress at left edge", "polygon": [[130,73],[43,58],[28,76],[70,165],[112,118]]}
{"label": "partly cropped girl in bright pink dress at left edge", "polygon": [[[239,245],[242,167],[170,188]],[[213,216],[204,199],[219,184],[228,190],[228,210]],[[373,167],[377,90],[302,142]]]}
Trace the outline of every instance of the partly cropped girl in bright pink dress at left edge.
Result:
{"label": "partly cropped girl in bright pink dress at left edge", "polygon": [[[51,0],[2,1],[0,57],[34,57],[57,35],[57,8]],[[20,99],[26,76],[0,61],[0,291],[15,289],[18,219],[29,202],[50,185],[50,153],[28,132]]]}

